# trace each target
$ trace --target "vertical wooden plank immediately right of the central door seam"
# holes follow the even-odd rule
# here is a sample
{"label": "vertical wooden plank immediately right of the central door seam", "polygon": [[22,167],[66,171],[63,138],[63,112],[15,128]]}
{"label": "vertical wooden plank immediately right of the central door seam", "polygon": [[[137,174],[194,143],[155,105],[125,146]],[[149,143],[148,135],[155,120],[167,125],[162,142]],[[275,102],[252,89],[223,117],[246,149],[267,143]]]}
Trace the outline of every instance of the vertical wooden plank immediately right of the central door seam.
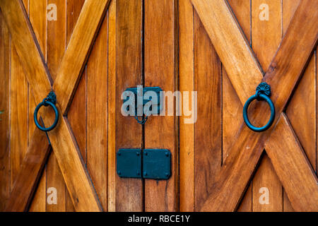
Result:
{"label": "vertical wooden plank immediately right of the central door seam", "polygon": [[[159,86],[172,93],[177,90],[177,52],[175,52],[177,5],[175,4],[177,1],[150,0],[145,1],[144,8],[145,87]],[[145,181],[146,211],[178,210],[177,121],[177,117],[171,116],[151,117],[145,124],[145,148],[164,148],[170,150],[172,154],[170,179]]]}

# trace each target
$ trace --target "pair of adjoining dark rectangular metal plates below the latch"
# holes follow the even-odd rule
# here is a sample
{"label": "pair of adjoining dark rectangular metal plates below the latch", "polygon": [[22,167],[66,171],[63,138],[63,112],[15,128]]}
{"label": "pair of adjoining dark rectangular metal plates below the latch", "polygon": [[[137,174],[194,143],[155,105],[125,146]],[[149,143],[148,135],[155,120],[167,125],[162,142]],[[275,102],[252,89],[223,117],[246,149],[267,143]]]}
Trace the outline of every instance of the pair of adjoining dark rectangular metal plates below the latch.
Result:
{"label": "pair of adjoining dark rectangular metal plates below the latch", "polygon": [[127,178],[169,179],[171,176],[170,150],[119,149],[117,174],[119,177]]}

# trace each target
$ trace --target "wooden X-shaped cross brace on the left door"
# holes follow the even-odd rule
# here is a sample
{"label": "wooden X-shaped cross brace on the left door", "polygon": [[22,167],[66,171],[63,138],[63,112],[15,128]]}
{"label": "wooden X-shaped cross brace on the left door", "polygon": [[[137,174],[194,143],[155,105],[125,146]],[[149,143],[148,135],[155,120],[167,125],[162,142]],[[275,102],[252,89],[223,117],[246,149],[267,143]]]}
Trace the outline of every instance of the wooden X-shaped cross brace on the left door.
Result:
{"label": "wooden X-shaped cross brace on the left door", "polygon": [[[61,116],[66,114],[81,71],[86,64],[102,18],[109,5],[110,0],[85,1],[52,88],[49,69],[45,64],[22,1],[0,1],[1,12],[11,32],[13,44],[28,78],[28,83],[33,90],[35,102],[42,102],[53,89],[57,94],[59,114]],[[54,117],[52,112],[47,109],[41,116],[45,124],[50,124]],[[61,117],[57,128],[50,131],[48,136],[75,209],[77,211],[102,210],[65,117]],[[41,145],[42,153],[39,151]],[[11,197],[6,205],[7,211],[27,210],[48,153],[49,145],[45,133],[36,129],[21,165],[20,173],[13,185]]]}

